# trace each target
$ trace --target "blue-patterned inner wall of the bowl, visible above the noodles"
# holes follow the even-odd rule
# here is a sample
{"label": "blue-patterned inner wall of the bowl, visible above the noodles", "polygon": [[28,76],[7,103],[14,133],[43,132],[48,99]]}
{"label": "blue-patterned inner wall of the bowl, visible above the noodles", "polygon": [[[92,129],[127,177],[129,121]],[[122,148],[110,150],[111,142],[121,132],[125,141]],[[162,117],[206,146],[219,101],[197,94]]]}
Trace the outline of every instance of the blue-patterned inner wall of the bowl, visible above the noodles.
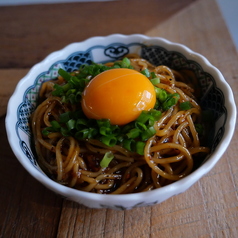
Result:
{"label": "blue-patterned inner wall of the bowl, visible above the noodles", "polygon": [[[37,105],[38,91],[42,82],[55,78],[59,68],[71,72],[77,70],[81,64],[89,64],[92,61],[97,63],[114,61],[122,58],[128,53],[137,53],[154,65],[166,65],[175,70],[192,72],[191,79],[195,78],[197,80],[195,82],[197,84],[196,87],[199,88],[200,95],[202,95],[200,98],[200,105],[204,111],[208,112],[207,117],[210,117],[210,119],[212,117],[213,121],[212,126],[209,127],[210,131],[207,133],[209,136],[204,143],[211,148],[211,152],[216,149],[216,146],[219,144],[224,133],[227,111],[224,105],[223,92],[216,87],[212,75],[205,72],[201,65],[193,60],[187,59],[179,52],[168,51],[160,46],[146,46],[136,42],[128,45],[122,43],[114,43],[108,46],[95,45],[84,51],[74,52],[65,59],[52,63],[48,71],[37,75],[34,84],[25,91],[23,101],[18,107],[16,130],[21,141],[22,151],[36,169],[41,171],[30,146],[31,133],[28,121]],[[202,162],[204,161],[200,161],[196,167],[199,167]]]}

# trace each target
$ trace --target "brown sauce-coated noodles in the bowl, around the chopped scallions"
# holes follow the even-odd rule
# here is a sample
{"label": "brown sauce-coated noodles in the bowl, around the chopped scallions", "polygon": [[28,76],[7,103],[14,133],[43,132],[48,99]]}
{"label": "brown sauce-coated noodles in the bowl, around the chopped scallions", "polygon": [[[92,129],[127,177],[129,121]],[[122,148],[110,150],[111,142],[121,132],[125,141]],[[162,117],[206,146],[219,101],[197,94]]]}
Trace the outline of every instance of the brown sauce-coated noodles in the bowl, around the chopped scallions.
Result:
{"label": "brown sauce-coated noodles in the bowl, around the chopped scallions", "polygon": [[[53,129],[44,133],[46,128],[52,128],[52,121],[59,122],[55,126],[58,128],[62,114],[80,110],[80,103],[69,103],[64,96],[52,93],[57,90],[55,85],[65,87],[66,80],[62,76],[43,83],[31,127],[38,163],[58,183],[94,193],[143,192],[184,178],[193,171],[194,161],[209,153],[209,148],[201,145],[197,132],[197,124],[202,124],[201,108],[191,77],[167,66],[154,66],[137,56],[128,55],[128,58],[131,68],[139,72],[148,70],[160,79],[155,87],[165,90],[167,95],[179,95],[178,101],[168,110],[162,110],[153,125],[155,134],[143,142],[143,154],[138,154],[120,143],[109,146],[93,137],[77,139]],[[79,73],[80,69],[71,75]],[[92,75],[86,76],[88,81],[91,78]],[[193,77],[193,80],[196,79]],[[181,109],[183,102],[189,102],[190,107]],[[106,166],[100,166],[109,152],[113,158]]]}

